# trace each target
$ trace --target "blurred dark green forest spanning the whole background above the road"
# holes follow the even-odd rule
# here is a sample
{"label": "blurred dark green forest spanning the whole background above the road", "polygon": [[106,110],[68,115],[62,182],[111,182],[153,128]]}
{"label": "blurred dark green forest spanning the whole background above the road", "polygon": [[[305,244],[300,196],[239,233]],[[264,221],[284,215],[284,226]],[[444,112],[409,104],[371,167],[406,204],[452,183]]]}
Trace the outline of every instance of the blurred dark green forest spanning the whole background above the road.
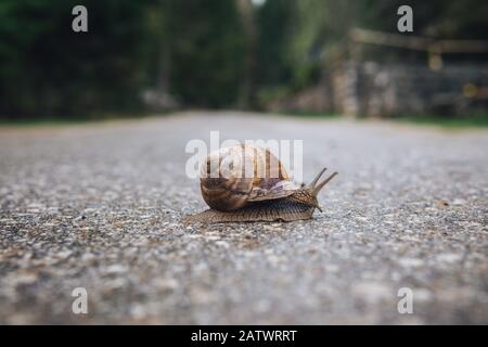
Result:
{"label": "blurred dark green forest spanning the whole background above the road", "polygon": [[[77,4],[88,8],[88,33],[72,30]],[[316,83],[347,59],[351,28],[396,33],[403,1],[267,0],[251,12],[243,4],[2,0],[0,118],[133,114],[142,110],[146,89],[170,93],[183,106],[244,105],[242,99],[262,105]],[[485,0],[409,4],[414,35],[487,39]],[[424,52],[361,50],[375,60],[425,61]]]}

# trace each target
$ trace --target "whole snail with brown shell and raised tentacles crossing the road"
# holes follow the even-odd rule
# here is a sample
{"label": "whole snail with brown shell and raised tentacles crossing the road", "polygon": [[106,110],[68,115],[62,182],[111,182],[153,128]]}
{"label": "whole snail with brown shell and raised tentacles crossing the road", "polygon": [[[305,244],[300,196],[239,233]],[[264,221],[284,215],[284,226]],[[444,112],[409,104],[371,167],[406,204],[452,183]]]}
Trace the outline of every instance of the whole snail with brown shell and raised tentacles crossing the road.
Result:
{"label": "whole snail with brown shell and raised tentacles crossing the road", "polygon": [[268,150],[237,144],[211,152],[201,166],[202,196],[209,209],[185,217],[187,222],[293,221],[310,219],[317,196],[337,172],[319,183],[292,181]]}

